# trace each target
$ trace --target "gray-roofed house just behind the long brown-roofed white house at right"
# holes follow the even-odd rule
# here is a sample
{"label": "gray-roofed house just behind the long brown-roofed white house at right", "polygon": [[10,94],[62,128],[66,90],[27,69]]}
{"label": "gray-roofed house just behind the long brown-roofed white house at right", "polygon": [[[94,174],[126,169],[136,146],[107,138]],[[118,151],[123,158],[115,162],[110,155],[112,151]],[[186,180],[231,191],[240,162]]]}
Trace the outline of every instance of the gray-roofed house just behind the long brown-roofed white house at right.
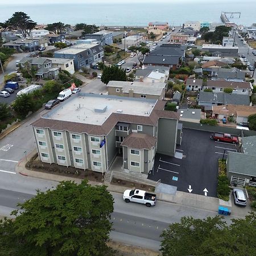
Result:
{"label": "gray-roofed house just behind the long brown-roofed white house at right", "polygon": [[245,73],[238,68],[218,68],[214,71],[212,80],[225,79],[226,81],[242,82],[245,80]]}

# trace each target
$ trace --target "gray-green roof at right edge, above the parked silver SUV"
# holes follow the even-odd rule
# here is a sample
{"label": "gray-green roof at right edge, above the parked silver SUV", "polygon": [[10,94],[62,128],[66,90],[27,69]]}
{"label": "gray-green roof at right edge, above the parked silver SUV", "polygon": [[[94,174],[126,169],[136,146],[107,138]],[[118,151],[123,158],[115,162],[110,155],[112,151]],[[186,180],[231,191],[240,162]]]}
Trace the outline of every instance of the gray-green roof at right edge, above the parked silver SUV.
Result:
{"label": "gray-green roof at right edge, above the parked silver SUV", "polygon": [[256,176],[256,157],[238,152],[228,152],[228,172]]}

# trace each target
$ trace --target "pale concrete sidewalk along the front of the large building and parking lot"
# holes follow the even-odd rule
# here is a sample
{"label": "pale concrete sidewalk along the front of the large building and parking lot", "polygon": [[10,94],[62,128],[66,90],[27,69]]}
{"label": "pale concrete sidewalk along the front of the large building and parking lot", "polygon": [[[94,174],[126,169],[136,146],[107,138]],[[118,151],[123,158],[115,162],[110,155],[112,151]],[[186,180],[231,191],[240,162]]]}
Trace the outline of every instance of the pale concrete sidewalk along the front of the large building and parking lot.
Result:
{"label": "pale concrete sidewalk along the front of the large building and parking lot", "polygon": [[[32,156],[36,154],[36,149],[30,152],[30,154],[27,155],[27,159],[31,159]],[[26,165],[26,158],[23,158],[20,160],[20,162],[16,165],[15,171],[19,173],[20,175],[24,176],[30,176],[30,177],[36,177],[39,179],[46,179],[46,180],[54,180],[54,181],[63,181],[63,180],[72,180],[76,183],[81,183],[81,179],[73,178],[73,177],[67,177],[67,176],[61,176],[61,175],[55,175],[55,174],[48,174],[44,172],[36,172],[27,170],[25,167]],[[110,183],[100,183],[95,181],[89,181],[90,185],[107,185],[108,190],[112,192],[118,192],[123,193],[125,189],[129,189],[126,187],[122,187],[119,185],[113,185]],[[181,191],[177,191],[175,196],[168,195],[165,193],[157,193],[158,200],[166,201],[169,203],[174,203],[178,205],[183,205],[187,207],[193,207],[193,208],[200,208],[204,210],[209,210],[210,212],[215,212],[217,214],[218,212],[218,206],[226,204],[226,207],[232,208],[232,205],[229,202],[221,203],[221,201],[215,197],[209,197],[209,196],[201,196],[196,195],[193,193],[185,193]],[[245,209],[240,209],[236,207],[237,209],[232,208],[232,216],[231,217],[245,217],[246,211]]]}

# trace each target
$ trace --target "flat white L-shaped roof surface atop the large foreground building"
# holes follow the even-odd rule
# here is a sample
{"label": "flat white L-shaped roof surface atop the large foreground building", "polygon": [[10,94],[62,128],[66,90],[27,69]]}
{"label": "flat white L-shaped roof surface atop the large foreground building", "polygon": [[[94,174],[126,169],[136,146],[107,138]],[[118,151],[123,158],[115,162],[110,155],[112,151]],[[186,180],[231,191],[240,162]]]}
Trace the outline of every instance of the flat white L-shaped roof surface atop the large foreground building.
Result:
{"label": "flat white L-shaped roof surface atop the large foreground building", "polygon": [[72,95],[44,118],[102,125],[112,113],[149,117],[156,100],[79,93]]}

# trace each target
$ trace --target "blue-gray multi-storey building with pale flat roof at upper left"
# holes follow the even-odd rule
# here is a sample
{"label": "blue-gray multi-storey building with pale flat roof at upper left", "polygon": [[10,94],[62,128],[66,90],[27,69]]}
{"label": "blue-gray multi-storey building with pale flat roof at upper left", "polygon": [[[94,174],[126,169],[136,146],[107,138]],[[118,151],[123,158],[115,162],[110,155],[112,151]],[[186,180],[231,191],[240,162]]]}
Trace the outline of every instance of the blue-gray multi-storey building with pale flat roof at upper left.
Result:
{"label": "blue-gray multi-storey building with pale flat roof at upper left", "polygon": [[104,49],[100,44],[76,44],[54,52],[55,58],[72,59],[75,70],[81,67],[90,67],[101,62],[104,58]]}

